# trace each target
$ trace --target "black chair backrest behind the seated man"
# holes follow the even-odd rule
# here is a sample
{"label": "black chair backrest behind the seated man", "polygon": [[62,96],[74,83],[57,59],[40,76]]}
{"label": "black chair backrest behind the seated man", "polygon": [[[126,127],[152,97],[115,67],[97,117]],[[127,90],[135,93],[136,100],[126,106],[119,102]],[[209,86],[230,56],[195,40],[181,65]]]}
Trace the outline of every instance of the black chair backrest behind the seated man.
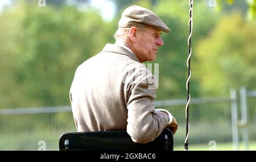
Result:
{"label": "black chair backrest behind the seated man", "polygon": [[131,140],[126,130],[64,133],[59,139],[59,149],[84,151],[172,151],[172,131],[164,129],[154,141],[139,144]]}

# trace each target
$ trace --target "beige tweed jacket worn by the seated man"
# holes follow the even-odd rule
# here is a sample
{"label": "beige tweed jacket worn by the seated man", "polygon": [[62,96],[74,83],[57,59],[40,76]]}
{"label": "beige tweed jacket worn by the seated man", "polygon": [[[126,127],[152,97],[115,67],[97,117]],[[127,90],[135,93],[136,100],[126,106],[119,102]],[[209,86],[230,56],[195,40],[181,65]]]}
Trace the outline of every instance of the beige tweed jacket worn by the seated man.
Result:
{"label": "beige tweed jacket worn by the seated man", "polygon": [[169,122],[155,111],[156,81],[129,50],[106,44],[76,70],[70,98],[77,131],[127,129],[134,142],[151,142]]}

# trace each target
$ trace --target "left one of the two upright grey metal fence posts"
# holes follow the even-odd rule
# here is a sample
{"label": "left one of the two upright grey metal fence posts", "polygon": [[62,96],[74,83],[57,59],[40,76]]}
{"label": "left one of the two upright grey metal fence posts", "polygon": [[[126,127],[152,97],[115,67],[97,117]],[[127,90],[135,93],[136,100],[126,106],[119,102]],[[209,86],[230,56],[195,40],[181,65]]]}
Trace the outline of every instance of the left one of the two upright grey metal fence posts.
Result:
{"label": "left one of the two upright grey metal fence posts", "polygon": [[235,89],[230,90],[230,99],[233,147],[234,150],[239,150],[239,139],[237,129],[237,92]]}

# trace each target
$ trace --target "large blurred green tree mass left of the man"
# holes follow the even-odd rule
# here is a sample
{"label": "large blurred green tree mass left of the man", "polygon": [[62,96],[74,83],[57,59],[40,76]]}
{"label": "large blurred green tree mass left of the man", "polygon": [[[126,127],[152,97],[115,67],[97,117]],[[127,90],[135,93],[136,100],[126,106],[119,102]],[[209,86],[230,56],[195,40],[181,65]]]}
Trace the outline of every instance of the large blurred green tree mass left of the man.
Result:
{"label": "large blurred green tree mass left of the man", "polygon": [[20,1],[0,19],[2,108],[68,105],[76,67],[113,40],[112,24],[72,6]]}

